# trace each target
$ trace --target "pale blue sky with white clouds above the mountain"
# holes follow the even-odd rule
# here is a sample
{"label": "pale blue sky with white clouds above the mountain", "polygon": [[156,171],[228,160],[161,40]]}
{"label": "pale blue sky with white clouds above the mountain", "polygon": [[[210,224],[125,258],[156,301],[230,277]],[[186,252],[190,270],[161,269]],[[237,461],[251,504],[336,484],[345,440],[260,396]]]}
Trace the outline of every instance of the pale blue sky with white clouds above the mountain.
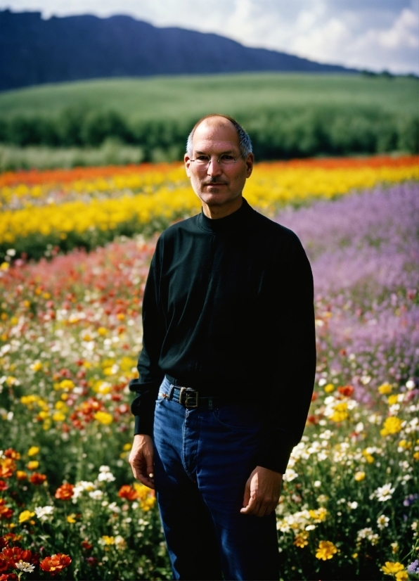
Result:
{"label": "pale blue sky with white clouds above the mountain", "polygon": [[321,63],[419,74],[419,0],[0,0],[51,15],[131,15]]}

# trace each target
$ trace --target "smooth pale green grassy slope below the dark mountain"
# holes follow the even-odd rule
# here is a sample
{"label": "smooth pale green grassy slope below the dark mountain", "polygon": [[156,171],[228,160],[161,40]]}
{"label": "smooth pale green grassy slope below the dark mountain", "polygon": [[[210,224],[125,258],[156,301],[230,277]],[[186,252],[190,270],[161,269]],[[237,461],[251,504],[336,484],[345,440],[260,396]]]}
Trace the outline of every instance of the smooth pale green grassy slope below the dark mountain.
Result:
{"label": "smooth pale green grassy slope below the dark mountain", "polygon": [[259,114],[307,106],[373,107],[418,113],[419,82],[406,77],[247,73],[196,77],[98,79],[46,84],[0,94],[0,116],[58,115],[68,107],[113,110],[130,121],[188,119],[217,111]]}

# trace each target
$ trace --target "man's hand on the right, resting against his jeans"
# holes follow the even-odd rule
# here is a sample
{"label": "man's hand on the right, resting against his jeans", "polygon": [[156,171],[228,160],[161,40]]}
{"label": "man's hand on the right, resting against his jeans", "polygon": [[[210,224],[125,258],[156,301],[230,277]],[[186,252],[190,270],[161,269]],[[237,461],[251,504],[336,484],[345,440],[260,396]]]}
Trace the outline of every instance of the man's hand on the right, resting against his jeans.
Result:
{"label": "man's hand on the right, resting against his jeans", "polygon": [[282,474],[256,466],[247,479],[242,514],[266,516],[276,509],[282,486]]}

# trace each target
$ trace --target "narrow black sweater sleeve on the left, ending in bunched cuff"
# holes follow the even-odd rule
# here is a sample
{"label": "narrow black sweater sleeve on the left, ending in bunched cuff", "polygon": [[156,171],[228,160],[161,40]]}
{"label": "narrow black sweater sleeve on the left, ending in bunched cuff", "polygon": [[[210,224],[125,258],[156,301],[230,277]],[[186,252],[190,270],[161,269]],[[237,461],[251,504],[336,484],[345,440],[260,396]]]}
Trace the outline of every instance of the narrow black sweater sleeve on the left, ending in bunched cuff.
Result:
{"label": "narrow black sweater sleeve on the left, ending in bunched cuff", "polygon": [[138,357],[139,377],[129,383],[136,392],[131,404],[135,416],[134,435],[153,435],[155,400],[164,378],[159,367],[160,351],[165,338],[165,317],[159,298],[160,268],[157,260],[158,244],[150,264],[143,296],[143,349]]}

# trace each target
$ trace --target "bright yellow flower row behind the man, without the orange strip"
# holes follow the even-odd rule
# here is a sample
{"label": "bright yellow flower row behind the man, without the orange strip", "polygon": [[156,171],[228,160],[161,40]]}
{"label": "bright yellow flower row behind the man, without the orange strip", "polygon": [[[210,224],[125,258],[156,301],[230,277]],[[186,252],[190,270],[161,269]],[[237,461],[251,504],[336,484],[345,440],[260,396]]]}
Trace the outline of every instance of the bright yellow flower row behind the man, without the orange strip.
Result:
{"label": "bright yellow flower row behind the man, without the orange strip", "polygon": [[[4,210],[0,215],[0,243],[13,244],[18,238],[32,234],[55,234],[65,238],[73,231],[108,231],[127,222],[148,224],[153,219],[169,222],[192,215],[199,211],[199,200],[190,186],[179,185],[179,171],[179,168],[173,170],[178,178],[176,183],[161,186],[155,193],[135,195],[132,191],[127,192],[127,189],[134,189],[135,176],[121,176],[114,179],[114,186],[118,190],[122,189],[120,197],[89,198],[86,202],[75,200],[60,205]],[[141,175],[141,179],[144,179],[144,175]],[[330,169],[261,164],[255,167],[254,174],[247,181],[244,194],[250,205],[269,213],[288,203],[304,203],[311,198],[332,198],[354,189],[408,179],[419,179],[417,165]]]}

